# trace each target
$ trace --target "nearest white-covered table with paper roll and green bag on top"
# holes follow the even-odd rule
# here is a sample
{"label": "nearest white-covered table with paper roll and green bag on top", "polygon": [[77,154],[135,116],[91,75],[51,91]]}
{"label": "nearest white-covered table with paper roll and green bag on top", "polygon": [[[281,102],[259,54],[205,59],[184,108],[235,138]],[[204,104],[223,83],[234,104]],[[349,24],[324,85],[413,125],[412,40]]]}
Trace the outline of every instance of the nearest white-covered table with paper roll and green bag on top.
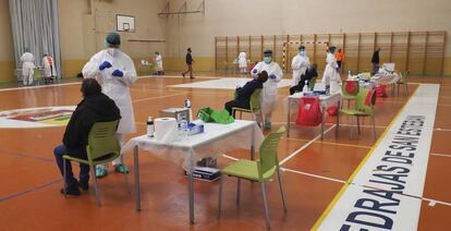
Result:
{"label": "nearest white-covered table with paper roll and green bag on top", "polygon": [[264,135],[255,121],[235,120],[231,124],[204,123],[204,133],[188,136],[185,141],[164,144],[147,135],[142,135],[130,139],[124,145],[121,150],[122,154],[134,150],[136,210],[141,210],[139,149],[169,159],[186,170],[188,175],[190,222],[194,223],[193,171],[196,162],[202,158],[218,157],[236,148],[249,148],[251,159],[254,159],[255,147],[259,147],[264,139]]}

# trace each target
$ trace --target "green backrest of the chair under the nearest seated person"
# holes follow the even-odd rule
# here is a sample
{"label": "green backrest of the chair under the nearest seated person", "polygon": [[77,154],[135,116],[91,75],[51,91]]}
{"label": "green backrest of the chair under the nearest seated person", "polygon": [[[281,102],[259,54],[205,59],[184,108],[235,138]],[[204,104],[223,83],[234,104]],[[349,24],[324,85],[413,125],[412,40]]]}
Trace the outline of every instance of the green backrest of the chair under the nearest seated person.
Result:
{"label": "green backrest of the chair under the nearest seated person", "polygon": [[111,122],[96,122],[88,135],[86,153],[89,161],[110,154],[119,154],[121,146],[115,136],[119,120]]}

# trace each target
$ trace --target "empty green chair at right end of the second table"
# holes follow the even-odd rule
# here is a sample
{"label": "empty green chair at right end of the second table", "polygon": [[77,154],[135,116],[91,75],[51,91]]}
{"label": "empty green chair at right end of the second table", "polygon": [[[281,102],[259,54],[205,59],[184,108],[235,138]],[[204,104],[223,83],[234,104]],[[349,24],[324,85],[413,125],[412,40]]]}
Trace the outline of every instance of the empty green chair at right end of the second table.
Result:
{"label": "empty green chair at right end of the second table", "polygon": [[[359,125],[359,118],[361,117],[370,117],[373,121],[373,133],[376,139],[376,124],[375,124],[375,104],[376,104],[376,90],[373,90],[373,95],[370,96],[370,104],[369,106],[365,104],[366,97],[369,94],[369,89],[362,88],[357,94],[357,99],[355,102],[354,108],[350,109],[340,109],[338,115],[337,115],[337,130],[336,130],[336,136],[338,136],[339,125],[340,125],[340,115],[352,115],[356,118],[357,123],[357,130],[358,134],[361,133],[361,125]],[[350,124],[351,125],[351,124]],[[352,138],[352,132],[353,130],[350,126],[350,138]]]}

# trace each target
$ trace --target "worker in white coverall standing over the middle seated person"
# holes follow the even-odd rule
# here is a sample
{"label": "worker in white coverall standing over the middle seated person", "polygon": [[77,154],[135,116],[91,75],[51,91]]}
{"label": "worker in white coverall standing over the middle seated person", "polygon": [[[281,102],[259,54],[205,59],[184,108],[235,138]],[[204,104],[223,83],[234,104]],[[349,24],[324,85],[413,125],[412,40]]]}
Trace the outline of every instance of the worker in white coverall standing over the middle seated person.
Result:
{"label": "worker in white coverall standing over the middle seated person", "polygon": [[263,122],[265,117],[265,130],[271,129],[272,111],[277,109],[277,102],[279,99],[278,83],[282,80],[283,72],[277,62],[272,61],[272,50],[264,51],[264,61],[258,62],[251,71],[252,76],[255,78],[258,73],[268,72],[269,78],[264,84],[260,96],[260,114],[257,114],[257,122]]}

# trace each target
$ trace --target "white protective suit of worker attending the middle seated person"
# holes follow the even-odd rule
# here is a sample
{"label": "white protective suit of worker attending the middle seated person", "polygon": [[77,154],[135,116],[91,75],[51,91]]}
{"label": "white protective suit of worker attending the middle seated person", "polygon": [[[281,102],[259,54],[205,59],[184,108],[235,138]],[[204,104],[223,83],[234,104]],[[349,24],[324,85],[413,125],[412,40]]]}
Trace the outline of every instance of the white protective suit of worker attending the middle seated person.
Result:
{"label": "white protective suit of worker attending the middle seated person", "polygon": [[[257,73],[254,73],[254,70],[257,70]],[[255,78],[258,76],[258,73],[263,71],[268,72],[268,76],[271,76],[272,74],[276,75],[276,78],[269,77],[268,81],[265,82],[260,96],[261,114],[265,115],[265,122],[271,122],[272,111],[277,109],[277,102],[279,100],[277,85],[282,80],[283,72],[280,65],[272,61],[269,64],[265,62],[257,63],[257,65],[255,65],[251,71],[251,74]]]}

